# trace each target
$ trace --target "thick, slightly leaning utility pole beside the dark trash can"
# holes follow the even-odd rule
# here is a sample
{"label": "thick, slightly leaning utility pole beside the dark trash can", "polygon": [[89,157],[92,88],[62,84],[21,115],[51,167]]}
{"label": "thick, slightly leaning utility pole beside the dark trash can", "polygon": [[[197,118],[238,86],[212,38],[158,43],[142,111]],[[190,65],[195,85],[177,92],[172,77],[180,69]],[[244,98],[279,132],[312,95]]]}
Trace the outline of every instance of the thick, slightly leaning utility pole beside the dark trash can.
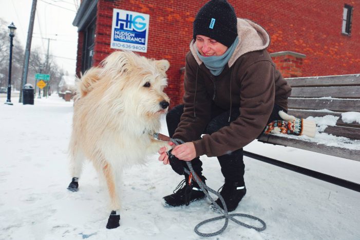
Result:
{"label": "thick, slightly leaning utility pole beside the dark trash can", "polygon": [[28,30],[28,38],[26,40],[26,49],[25,49],[25,58],[24,58],[24,65],[23,65],[23,74],[22,74],[22,78],[21,78],[21,86],[20,86],[21,87],[21,94],[19,96],[19,102],[23,102],[23,87],[26,84],[26,80],[27,80],[27,77],[28,77],[30,49],[31,49],[31,40],[32,40],[32,30],[34,28],[34,21],[35,21],[36,2],[37,2],[37,0],[32,0],[30,23],[29,23],[29,30]]}

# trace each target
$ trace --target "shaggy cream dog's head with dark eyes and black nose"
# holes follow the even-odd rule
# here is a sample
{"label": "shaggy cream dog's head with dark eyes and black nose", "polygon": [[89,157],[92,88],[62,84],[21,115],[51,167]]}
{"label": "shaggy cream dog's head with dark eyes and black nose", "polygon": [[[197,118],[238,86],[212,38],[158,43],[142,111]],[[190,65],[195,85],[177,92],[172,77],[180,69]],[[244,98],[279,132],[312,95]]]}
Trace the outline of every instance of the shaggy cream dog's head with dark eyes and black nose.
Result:
{"label": "shaggy cream dog's head with dark eyes and black nose", "polygon": [[103,73],[110,76],[113,83],[111,91],[117,95],[115,101],[126,114],[153,118],[167,111],[169,98],[164,88],[168,61],[118,51],[110,54],[103,65]]}

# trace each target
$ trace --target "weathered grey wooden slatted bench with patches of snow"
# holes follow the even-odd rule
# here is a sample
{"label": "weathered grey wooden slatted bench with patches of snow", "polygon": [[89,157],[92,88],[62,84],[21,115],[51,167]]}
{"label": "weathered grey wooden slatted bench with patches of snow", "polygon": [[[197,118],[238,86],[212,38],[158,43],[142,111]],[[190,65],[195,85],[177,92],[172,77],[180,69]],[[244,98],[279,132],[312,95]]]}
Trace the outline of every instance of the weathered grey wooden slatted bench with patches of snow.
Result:
{"label": "weathered grey wooden slatted bench with patches of snow", "polygon": [[[287,81],[292,87],[288,114],[297,118],[326,115],[339,117],[336,125],[328,126],[324,133],[349,138],[349,144],[355,149],[321,144],[316,142],[316,136],[309,141],[309,138],[305,139],[301,136],[293,138],[287,135],[263,134],[258,140],[360,161],[360,124],[346,123],[342,120],[342,113],[360,112],[360,74],[288,78]],[[334,143],[336,145],[336,140]]]}

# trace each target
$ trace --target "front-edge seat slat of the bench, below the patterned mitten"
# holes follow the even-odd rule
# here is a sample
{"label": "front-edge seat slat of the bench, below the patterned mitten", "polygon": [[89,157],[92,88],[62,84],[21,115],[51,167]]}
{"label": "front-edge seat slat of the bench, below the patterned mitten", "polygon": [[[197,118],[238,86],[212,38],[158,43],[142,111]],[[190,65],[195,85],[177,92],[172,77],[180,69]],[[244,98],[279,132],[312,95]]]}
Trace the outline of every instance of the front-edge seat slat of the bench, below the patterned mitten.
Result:
{"label": "front-edge seat slat of the bench, below the patterned mitten", "polygon": [[292,146],[298,149],[308,150],[316,153],[322,153],[331,156],[360,161],[360,150],[350,150],[350,149],[344,149],[342,147],[327,146],[323,144],[317,144],[316,142],[306,142],[292,138],[278,137],[271,134],[261,135],[258,137],[258,140],[265,141],[267,143],[278,144],[283,146]]}

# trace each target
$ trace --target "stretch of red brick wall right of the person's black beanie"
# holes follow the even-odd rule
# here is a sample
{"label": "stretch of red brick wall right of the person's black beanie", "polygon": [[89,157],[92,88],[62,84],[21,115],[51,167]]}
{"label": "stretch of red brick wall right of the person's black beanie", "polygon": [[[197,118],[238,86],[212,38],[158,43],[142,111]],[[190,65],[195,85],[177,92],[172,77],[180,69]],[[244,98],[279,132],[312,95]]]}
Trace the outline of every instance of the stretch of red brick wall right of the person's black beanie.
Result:
{"label": "stretch of red brick wall right of the person's black beanie", "polygon": [[[283,0],[231,1],[239,17],[252,19],[268,30],[269,52],[305,54],[304,77],[360,72],[360,1]],[[353,6],[351,36],[342,31],[344,4]]]}

